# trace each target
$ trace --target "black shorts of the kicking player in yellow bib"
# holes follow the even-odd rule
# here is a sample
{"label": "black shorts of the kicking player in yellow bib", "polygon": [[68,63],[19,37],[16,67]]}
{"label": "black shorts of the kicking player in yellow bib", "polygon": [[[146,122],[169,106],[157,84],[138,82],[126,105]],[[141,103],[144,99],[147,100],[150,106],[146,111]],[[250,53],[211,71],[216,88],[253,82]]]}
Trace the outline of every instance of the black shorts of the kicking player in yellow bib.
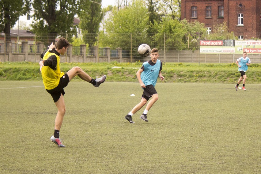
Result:
{"label": "black shorts of the kicking player in yellow bib", "polygon": [[46,89],[49,94],[53,97],[54,102],[57,102],[62,95],[65,94],[63,88],[65,88],[69,83],[68,74],[64,74],[59,81],[59,84],[54,89]]}

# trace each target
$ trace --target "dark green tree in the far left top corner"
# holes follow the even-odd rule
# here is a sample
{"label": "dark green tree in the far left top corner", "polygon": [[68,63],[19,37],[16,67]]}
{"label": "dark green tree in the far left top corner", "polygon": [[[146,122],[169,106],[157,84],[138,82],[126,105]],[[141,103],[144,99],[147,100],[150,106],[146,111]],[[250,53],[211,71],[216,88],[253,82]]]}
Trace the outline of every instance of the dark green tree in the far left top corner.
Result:
{"label": "dark green tree in the far left top corner", "polygon": [[6,40],[11,41],[12,28],[21,15],[29,13],[30,0],[0,1],[0,30],[6,34]]}

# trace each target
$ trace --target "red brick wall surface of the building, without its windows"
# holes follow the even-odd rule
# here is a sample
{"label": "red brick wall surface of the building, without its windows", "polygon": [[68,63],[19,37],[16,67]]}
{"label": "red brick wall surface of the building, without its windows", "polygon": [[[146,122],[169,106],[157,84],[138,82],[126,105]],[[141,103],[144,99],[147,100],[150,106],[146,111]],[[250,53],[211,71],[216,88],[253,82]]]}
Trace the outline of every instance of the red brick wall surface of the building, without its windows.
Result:
{"label": "red brick wall surface of the building, without its windows", "polygon": [[[239,7],[239,4],[242,7]],[[196,19],[191,18],[191,6],[198,7]],[[206,6],[211,6],[212,18],[206,18]],[[224,6],[224,19],[218,18],[218,6]],[[227,22],[230,32],[261,32],[260,10],[261,0],[182,0],[181,20],[199,21],[206,27]],[[244,26],[237,26],[238,13],[244,15]]]}

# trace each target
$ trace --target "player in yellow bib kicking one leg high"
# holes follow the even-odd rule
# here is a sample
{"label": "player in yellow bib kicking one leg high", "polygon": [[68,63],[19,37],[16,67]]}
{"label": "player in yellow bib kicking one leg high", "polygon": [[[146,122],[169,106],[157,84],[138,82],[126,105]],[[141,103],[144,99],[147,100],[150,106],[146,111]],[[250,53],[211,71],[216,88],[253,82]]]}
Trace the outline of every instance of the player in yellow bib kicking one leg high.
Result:
{"label": "player in yellow bib kicking one leg high", "polygon": [[70,43],[68,40],[63,37],[59,38],[56,46],[52,43],[49,46],[49,49],[41,54],[43,60],[39,62],[44,87],[47,92],[51,94],[58,109],[55,118],[55,131],[54,135],[51,137],[51,141],[59,147],[65,147],[59,138],[62,120],[65,114],[65,103],[63,98],[65,92],[63,88],[65,88],[75,76],[79,76],[82,80],[93,84],[95,87],[99,87],[106,79],[106,75],[101,78],[93,79],[78,66],[73,67],[66,74],[61,72],[59,56],[64,55],[69,46]]}

